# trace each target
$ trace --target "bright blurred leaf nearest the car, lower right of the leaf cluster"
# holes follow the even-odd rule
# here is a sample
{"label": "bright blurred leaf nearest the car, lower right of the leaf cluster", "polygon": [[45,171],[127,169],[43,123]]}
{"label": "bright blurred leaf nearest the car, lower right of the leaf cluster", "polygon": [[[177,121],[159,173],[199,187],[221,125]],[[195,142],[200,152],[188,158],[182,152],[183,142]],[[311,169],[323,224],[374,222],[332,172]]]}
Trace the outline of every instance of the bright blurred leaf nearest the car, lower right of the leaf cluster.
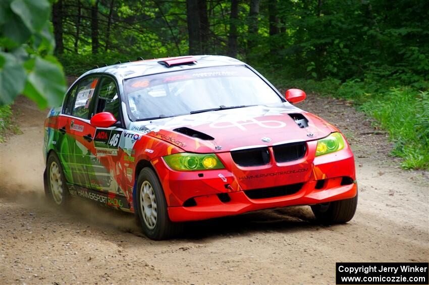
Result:
{"label": "bright blurred leaf nearest the car, lower right of the leaf cluster", "polygon": [[66,92],[63,70],[53,56],[35,58],[25,63],[29,73],[24,94],[36,101],[40,108],[47,105],[59,106]]}

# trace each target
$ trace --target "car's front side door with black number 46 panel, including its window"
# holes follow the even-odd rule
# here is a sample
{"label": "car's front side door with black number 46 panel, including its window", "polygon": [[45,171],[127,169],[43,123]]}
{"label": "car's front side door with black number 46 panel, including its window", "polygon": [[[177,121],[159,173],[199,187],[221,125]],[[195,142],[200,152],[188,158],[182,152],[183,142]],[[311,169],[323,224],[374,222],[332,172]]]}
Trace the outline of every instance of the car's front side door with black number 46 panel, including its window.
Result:
{"label": "car's front side door with black number 46 panel, including its window", "polygon": [[[121,100],[116,81],[109,76],[103,76],[97,88],[94,104],[94,114],[99,112],[111,112],[118,120],[115,126],[109,128],[96,128],[94,134],[95,153],[90,155],[88,169],[91,189],[125,197],[121,187],[124,169],[120,162],[122,150],[119,143],[124,129],[122,128]],[[114,206],[127,207],[122,203],[123,199],[111,199]]]}

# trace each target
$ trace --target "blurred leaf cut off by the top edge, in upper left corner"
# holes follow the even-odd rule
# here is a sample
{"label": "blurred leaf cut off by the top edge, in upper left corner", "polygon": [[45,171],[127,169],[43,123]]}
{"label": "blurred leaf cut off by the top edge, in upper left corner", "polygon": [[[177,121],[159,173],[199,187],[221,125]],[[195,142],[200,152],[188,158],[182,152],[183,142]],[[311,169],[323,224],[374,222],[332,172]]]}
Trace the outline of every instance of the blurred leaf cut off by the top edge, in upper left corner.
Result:
{"label": "blurred leaf cut off by the top edge, in upper left corner", "polygon": [[39,32],[49,19],[49,7],[47,0],[14,0],[11,3],[12,11],[33,33]]}

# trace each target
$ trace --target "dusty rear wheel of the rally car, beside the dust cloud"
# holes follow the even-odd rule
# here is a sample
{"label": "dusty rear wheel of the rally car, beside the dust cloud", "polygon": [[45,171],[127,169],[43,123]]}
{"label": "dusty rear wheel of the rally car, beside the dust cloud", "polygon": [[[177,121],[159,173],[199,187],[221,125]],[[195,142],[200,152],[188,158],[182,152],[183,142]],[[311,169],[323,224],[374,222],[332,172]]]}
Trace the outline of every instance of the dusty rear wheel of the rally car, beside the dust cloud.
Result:
{"label": "dusty rear wheel of the rally car, beside the dust cloud", "polygon": [[66,207],[70,201],[70,193],[66,184],[63,166],[55,152],[51,152],[46,163],[46,196],[58,207]]}

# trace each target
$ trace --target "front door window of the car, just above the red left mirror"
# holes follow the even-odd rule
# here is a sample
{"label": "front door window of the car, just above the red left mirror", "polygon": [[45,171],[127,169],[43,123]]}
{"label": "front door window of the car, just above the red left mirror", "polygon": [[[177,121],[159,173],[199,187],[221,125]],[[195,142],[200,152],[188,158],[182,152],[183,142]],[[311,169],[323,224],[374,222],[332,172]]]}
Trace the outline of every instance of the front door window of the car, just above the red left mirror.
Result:
{"label": "front door window of the car, just above the red left mirror", "polygon": [[104,77],[100,84],[96,112],[111,112],[116,120],[120,121],[119,108],[121,106],[121,100],[119,99],[115,81],[111,78]]}

